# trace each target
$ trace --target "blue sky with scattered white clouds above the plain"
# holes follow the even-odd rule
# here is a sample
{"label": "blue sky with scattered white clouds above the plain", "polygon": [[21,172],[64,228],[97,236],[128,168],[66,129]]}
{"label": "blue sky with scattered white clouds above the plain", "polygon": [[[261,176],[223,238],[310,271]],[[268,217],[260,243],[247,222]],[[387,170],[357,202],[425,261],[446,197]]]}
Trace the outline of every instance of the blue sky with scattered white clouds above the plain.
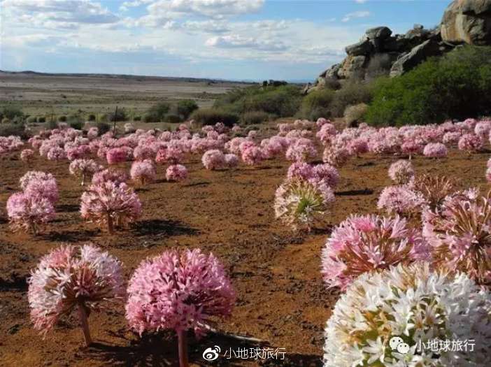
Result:
{"label": "blue sky with scattered white clouds above the plain", "polygon": [[0,69],[313,80],[369,27],[434,27],[448,3],[0,0]]}

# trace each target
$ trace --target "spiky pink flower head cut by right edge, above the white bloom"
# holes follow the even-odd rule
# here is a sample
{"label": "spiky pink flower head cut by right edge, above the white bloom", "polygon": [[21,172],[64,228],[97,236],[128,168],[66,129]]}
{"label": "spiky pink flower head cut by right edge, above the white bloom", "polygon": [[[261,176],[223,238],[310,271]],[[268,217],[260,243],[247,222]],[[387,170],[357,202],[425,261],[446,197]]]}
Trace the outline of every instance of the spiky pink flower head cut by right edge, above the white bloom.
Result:
{"label": "spiky pink flower head cut by right edge, above the white bloom", "polygon": [[436,268],[467,273],[479,285],[491,286],[490,196],[460,195],[446,199],[423,215],[423,234],[432,247]]}

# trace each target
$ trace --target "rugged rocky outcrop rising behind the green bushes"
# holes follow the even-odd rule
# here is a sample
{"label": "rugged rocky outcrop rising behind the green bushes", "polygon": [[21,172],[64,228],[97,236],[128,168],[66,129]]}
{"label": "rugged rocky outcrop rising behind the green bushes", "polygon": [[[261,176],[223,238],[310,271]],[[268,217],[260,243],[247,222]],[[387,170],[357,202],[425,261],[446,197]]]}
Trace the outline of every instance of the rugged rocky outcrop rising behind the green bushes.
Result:
{"label": "rugged rocky outcrop rising behind the green bushes", "polygon": [[359,42],[346,47],[348,56],[323,71],[304,92],[340,85],[351,78],[392,77],[410,71],[428,57],[441,56],[457,45],[491,45],[491,0],[455,0],[435,29],[415,24],[406,34],[387,27],[368,29]]}

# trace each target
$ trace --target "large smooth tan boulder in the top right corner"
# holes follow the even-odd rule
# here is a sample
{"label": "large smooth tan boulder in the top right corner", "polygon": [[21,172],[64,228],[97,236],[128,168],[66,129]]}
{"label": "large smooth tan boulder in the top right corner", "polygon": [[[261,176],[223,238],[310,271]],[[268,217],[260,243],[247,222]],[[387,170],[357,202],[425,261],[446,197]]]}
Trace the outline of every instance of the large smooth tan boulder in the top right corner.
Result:
{"label": "large smooth tan boulder in the top right corner", "polygon": [[441,21],[441,38],[450,43],[490,45],[491,0],[455,0]]}

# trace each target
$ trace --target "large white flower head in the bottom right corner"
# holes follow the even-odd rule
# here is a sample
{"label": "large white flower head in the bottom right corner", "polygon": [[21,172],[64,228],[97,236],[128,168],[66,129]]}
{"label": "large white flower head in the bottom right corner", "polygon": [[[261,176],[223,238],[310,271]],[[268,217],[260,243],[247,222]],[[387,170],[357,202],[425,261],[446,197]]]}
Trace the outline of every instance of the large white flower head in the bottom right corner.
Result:
{"label": "large white flower head in the bottom right corner", "polygon": [[[361,275],[336,303],[325,329],[324,366],[491,366],[491,294],[465,274],[427,264]],[[390,340],[408,345],[393,350]],[[474,340],[474,350],[435,353],[429,340]]]}

